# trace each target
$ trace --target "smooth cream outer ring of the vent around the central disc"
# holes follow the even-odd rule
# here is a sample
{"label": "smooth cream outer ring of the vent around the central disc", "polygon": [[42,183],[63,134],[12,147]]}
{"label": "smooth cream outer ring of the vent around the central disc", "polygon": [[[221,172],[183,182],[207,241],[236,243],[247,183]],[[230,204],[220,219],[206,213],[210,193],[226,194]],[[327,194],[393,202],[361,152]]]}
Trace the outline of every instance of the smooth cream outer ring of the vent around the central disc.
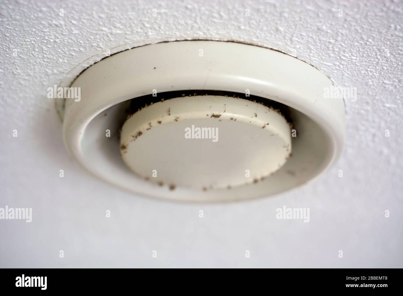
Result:
{"label": "smooth cream outer ring of the vent around the central disc", "polygon": [[[105,58],[77,77],[71,87],[81,87],[81,100],[66,99],[64,142],[75,159],[92,174],[140,195],[198,202],[234,201],[273,195],[313,180],[341,154],[345,139],[344,102],[343,99],[327,99],[323,95],[324,90],[330,89],[332,85],[332,81],[313,66],[259,46],[205,40],[141,46]],[[116,121],[117,114],[121,114],[127,100],[151,94],[153,89],[157,93],[190,89],[245,93],[248,89],[251,95],[283,103],[301,114],[296,122],[304,126],[305,135],[310,132],[310,126],[315,125],[312,133],[315,133],[317,139],[322,139],[318,143],[323,146],[323,151],[316,151],[323,154],[320,163],[308,168],[306,176],[298,172],[301,176],[297,178],[285,177],[286,171],[282,172],[275,180],[275,183],[281,184],[272,190],[269,189],[272,187],[270,184],[245,186],[231,193],[220,190],[216,193],[189,192],[181,188],[170,191],[144,180],[128,184],[129,172],[124,171],[121,160],[118,163],[115,159],[115,168],[110,167],[112,163],[105,162],[95,166],[101,160],[99,157],[102,157],[102,153],[107,157],[113,149],[102,148],[102,143],[106,143],[103,139],[105,132],[103,130],[103,135],[98,135],[102,130],[96,131],[94,122],[99,123],[103,112],[109,111]],[[98,125],[104,128],[108,124],[113,125],[105,121]],[[298,132],[298,126],[295,128]],[[100,143],[91,144],[97,139]],[[298,141],[307,144],[306,140]],[[313,147],[307,146],[301,148],[301,151]],[[98,150],[103,152],[98,153]],[[98,154],[90,155],[95,151]],[[298,159],[293,160],[293,163],[296,162]],[[298,169],[301,168],[300,165]],[[116,173],[121,173],[121,176]]]}

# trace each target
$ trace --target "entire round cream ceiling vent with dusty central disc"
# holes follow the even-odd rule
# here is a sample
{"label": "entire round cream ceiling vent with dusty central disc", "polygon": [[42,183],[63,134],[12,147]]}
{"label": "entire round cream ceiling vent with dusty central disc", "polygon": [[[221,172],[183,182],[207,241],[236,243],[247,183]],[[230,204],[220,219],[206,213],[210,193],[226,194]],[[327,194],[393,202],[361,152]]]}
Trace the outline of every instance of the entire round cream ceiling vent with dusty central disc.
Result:
{"label": "entire round cream ceiling vent with dusty central disc", "polygon": [[324,172],[343,147],[343,99],[287,54],[236,42],[174,41],[114,54],[66,99],[67,149],[139,195],[195,202],[266,197]]}

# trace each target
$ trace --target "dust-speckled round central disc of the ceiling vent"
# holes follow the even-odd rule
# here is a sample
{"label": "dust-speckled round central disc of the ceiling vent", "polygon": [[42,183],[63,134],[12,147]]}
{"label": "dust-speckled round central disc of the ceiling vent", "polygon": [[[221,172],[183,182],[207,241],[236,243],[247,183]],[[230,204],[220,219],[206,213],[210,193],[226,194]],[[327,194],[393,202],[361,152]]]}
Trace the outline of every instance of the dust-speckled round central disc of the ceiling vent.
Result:
{"label": "dust-speckled round central disc of the ceiling vent", "polygon": [[179,97],[126,120],[120,150],[133,172],[160,185],[231,188],[281,168],[291,153],[291,130],[280,111],[253,101]]}

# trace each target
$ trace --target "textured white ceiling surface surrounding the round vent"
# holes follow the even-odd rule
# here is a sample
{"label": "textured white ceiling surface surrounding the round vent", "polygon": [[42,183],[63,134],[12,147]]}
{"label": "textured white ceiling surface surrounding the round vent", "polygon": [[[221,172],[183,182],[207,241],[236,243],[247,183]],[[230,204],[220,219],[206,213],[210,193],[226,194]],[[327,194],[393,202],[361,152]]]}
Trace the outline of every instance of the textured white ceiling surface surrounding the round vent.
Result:
{"label": "textured white ceiling surface surrounding the round vent", "polygon": [[[10,0],[0,7],[0,207],[33,211],[31,223],[0,220],[0,267],[403,267],[401,1]],[[302,188],[226,205],[137,197],[89,175],[65,151],[46,89],[107,49],[175,39],[258,43],[356,87],[339,161]],[[310,222],[276,219],[283,205],[309,207]]]}

